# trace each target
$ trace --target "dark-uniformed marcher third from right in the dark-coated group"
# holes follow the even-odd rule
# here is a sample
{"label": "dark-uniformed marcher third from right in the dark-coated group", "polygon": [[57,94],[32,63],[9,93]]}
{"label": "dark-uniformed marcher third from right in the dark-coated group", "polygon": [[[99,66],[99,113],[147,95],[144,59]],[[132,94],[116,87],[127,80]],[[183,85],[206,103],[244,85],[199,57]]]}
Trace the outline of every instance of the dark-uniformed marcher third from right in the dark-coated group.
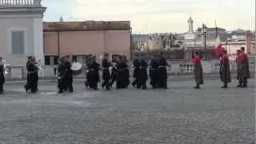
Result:
{"label": "dark-uniformed marcher third from right in the dark-coated group", "polygon": [[145,62],[143,58],[141,58],[138,70],[138,89],[142,87],[143,90],[146,90],[146,81],[148,79],[147,66],[148,64]]}

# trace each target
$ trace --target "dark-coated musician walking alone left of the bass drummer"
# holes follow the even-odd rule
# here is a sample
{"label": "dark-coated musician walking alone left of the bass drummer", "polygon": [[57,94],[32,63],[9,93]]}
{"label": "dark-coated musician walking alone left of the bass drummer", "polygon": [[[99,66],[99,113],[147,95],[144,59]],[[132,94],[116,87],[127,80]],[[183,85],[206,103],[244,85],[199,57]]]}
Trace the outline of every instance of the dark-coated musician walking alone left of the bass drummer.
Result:
{"label": "dark-coated musician walking alone left of the bass drummer", "polygon": [[26,62],[26,69],[27,69],[27,82],[25,90],[31,90],[32,93],[36,93],[37,91],[37,73],[38,67],[34,64],[32,57],[28,57],[28,62]]}

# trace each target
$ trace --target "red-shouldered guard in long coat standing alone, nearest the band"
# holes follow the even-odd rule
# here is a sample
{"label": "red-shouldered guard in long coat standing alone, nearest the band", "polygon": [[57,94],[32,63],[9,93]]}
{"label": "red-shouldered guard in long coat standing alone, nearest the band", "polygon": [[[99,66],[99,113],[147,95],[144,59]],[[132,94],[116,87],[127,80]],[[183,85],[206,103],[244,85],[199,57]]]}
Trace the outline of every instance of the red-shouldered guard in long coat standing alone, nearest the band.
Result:
{"label": "red-shouldered guard in long coat standing alone, nearest the band", "polygon": [[203,76],[202,76],[202,59],[199,56],[198,52],[195,52],[195,56],[193,58],[194,63],[194,80],[196,86],[194,89],[200,89],[200,85],[203,84]]}

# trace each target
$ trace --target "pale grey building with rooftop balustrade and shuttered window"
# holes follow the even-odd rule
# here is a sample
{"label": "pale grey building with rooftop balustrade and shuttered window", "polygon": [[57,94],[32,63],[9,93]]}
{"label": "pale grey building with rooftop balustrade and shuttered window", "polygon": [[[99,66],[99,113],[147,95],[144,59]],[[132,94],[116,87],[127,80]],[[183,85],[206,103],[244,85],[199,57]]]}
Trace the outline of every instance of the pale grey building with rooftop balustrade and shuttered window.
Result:
{"label": "pale grey building with rooftop balustrade and shuttered window", "polygon": [[10,66],[25,66],[29,55],[44,61],[42,18],[45,10],[41,0],[0,0],[0,56]]}

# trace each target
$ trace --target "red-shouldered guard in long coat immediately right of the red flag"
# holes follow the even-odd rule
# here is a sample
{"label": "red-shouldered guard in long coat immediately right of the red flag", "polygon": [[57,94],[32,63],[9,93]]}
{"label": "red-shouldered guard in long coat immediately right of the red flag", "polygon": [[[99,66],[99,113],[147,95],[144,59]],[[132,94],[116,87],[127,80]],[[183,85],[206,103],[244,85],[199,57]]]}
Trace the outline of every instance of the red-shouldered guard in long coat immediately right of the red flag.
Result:
{"label": "red-shouldered guard in long coat immediately right of the red flag", "polygon": [[221,79],[224,84],[222,88],[227,88],[228,83],[231,82],[231,75],[230,75],[230,59],[227,56],[226,50],[223,50],[222,52],[220,71],[221,71]]}

